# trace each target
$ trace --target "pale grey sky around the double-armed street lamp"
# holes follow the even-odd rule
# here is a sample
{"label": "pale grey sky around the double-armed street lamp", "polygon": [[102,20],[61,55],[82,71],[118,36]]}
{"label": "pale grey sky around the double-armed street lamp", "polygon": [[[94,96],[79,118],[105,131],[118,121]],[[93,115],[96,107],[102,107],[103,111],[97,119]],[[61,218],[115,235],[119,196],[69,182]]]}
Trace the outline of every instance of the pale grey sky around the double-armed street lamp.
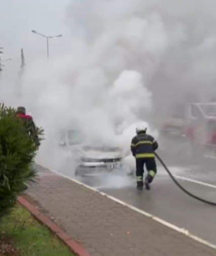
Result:
{"label": "pale grey sky around the double-armed street lamp", "polygon": [[[62,53],[69,36],[66,23],[66,8],[69,0],[0,0],[0,43],[4,47],[4,79],[10,79],[11,70],[19,68],[20,51],[24,49],[26,63],[34,58],[47,57],[47,41],[31,32],[36,30],[46,35],[63,34],[50,39],[50,58]],[[10,71],[9,71],[10,70]]]}

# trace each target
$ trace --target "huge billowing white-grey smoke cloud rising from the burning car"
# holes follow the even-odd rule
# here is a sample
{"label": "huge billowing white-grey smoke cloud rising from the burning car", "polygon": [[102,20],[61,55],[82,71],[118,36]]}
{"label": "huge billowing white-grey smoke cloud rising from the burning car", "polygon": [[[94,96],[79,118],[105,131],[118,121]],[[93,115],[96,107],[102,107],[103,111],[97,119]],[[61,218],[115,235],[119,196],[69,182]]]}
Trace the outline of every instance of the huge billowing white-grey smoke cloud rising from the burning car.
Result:
{"label": "huge billowing white-grey smoke cloud rising from the burning car", "polygon": [[45,128],[39,158],[53,161],[58,130],[77,120],[97,143],[129,147],[142,121],[157,136],[154,110],[189,88],[203,93],[203,82],[211,88],[216,78],[213,7],[213,0],[71,0],[70,48],[28,64],[22,98],[13,99]]}

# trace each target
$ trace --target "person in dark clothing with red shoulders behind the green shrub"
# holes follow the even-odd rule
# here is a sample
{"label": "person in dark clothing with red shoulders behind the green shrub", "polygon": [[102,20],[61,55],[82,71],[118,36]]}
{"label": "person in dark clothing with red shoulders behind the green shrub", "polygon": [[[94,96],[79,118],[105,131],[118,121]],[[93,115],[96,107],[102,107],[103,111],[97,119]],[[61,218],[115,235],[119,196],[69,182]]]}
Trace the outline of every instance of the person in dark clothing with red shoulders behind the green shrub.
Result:
{"label": "person in dark clothing with red shoulders behind the green shrub", "polygon": [[23,106],[20,106],[17,108],[16,114],[18,117],[22,119],[25,129],[28,135],[30,136],[30,138],[32,138],[35,145],[39,147],[40,142],[37,136],[36,126],[32,117],[30,115],[26,115],[26,110],[25,110],[25,107]]}

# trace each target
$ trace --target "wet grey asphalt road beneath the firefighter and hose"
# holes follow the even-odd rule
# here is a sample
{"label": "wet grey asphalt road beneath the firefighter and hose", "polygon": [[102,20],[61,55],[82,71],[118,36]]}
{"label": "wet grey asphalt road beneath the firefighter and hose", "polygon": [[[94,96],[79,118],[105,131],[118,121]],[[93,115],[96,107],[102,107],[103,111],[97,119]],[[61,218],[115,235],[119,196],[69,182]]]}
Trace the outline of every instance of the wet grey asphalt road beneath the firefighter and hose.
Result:
{"label": "wet grey asphalt road beneath the firefighter and hose", "polygon": [[[199,162],[199,165],[169,167],[178,177],[178,181],[190,192],[216,202],[214,166],[214,163],[207,160],[203,164]],[[216,244],[216,206],[199,202],[186,195],[169,178],[162,166],[158,167],[158,174],[150,191],[137,191],[135,177],[124,175],[109,174],[84,178],[81,181]]]}

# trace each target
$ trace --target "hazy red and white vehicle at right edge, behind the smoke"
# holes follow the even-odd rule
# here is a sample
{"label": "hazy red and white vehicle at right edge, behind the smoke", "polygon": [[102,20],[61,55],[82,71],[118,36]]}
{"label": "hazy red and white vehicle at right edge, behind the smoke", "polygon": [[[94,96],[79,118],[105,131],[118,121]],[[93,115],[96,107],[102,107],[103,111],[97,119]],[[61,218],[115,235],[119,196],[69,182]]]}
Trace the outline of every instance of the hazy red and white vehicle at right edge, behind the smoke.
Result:
{"label": "hazy red and white vehicle at right edge, behind the smoke", "polygon": [[216,103],[181,106],[162,124],[163,138],[184,138],[206,157],[216,158]]}

